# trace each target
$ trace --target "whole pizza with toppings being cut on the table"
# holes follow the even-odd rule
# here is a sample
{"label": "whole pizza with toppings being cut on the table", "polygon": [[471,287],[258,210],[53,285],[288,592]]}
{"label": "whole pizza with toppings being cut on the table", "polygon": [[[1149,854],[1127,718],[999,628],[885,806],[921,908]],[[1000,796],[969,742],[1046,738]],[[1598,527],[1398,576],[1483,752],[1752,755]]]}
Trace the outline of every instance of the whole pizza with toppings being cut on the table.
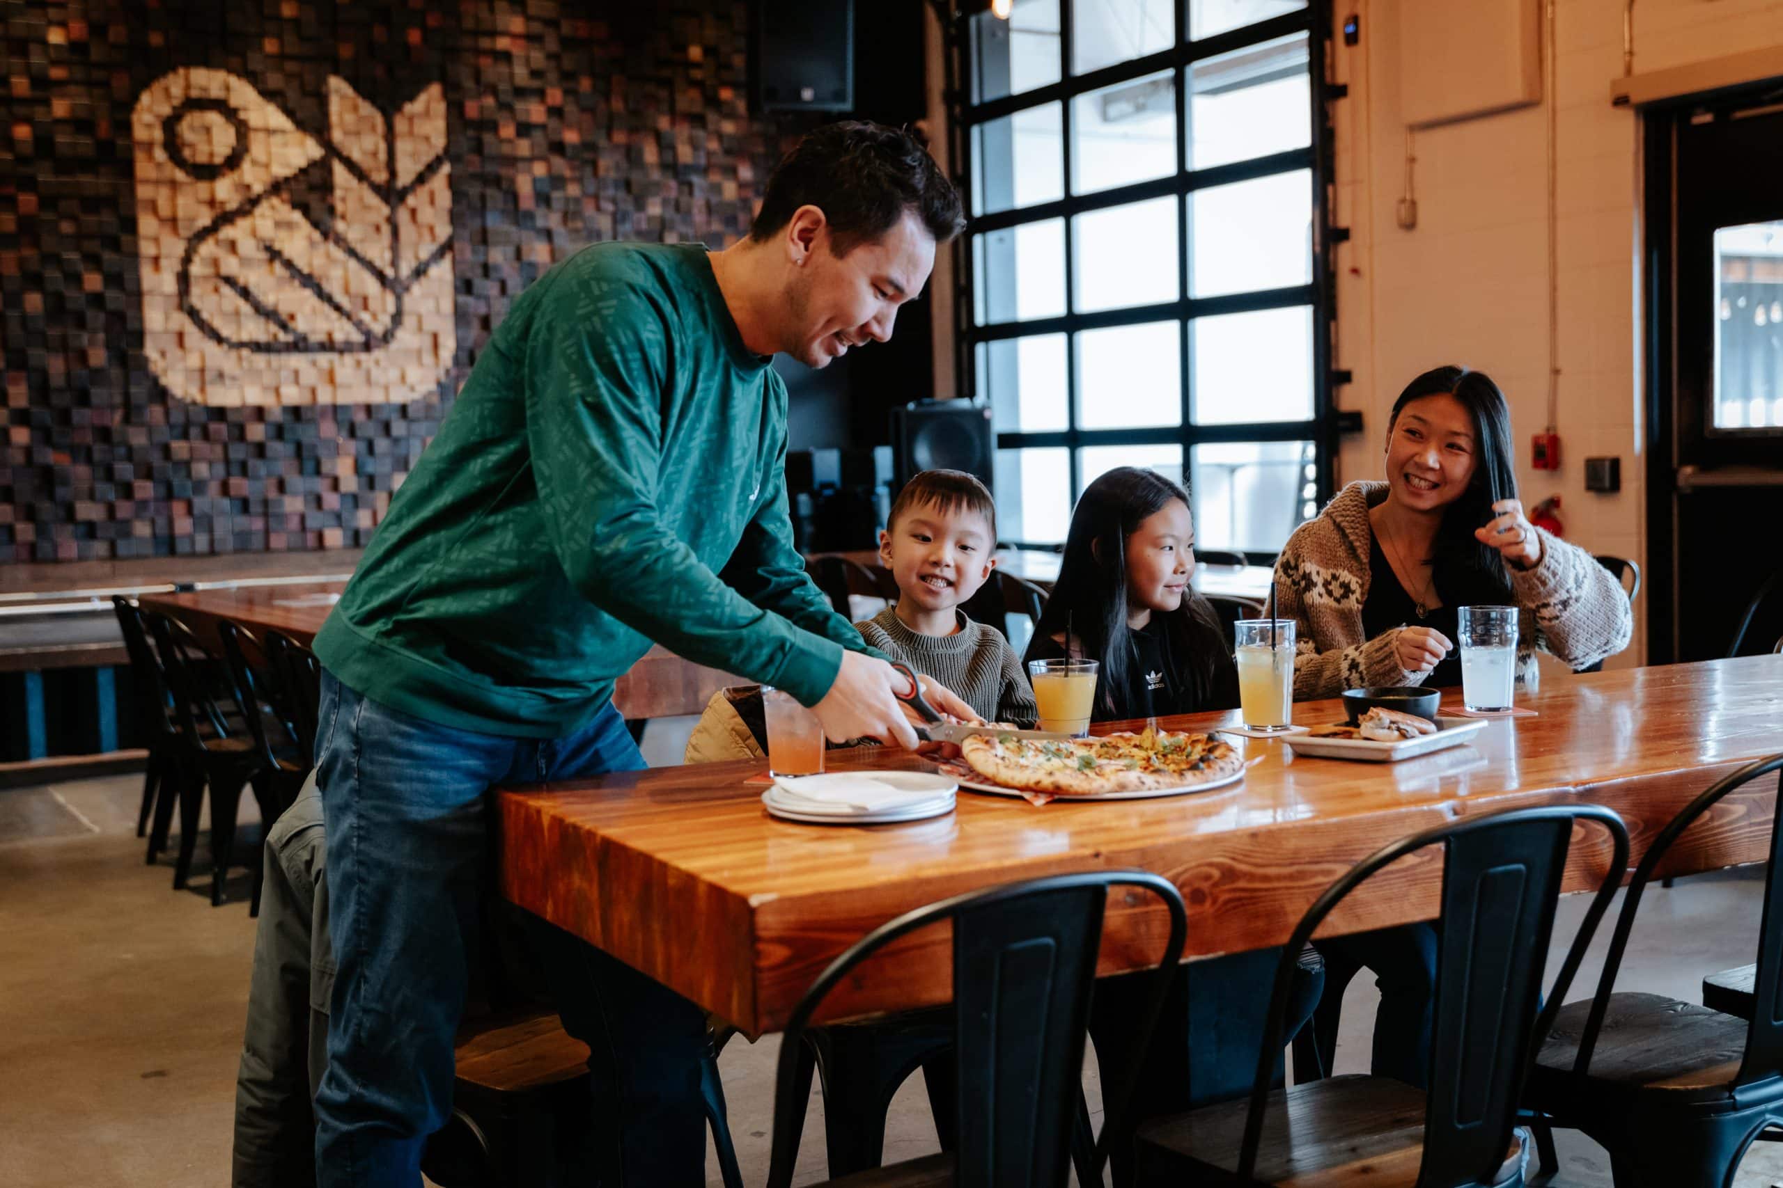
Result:
{"label": "whole pizza with toppings being cut on the table", "polygon": [[1088,739],[974,734],[959,745],[975,773],[1004,787],[1064,796],[1107,796],[1225,780],[1245,759],[1209,734],[1146,730]]}

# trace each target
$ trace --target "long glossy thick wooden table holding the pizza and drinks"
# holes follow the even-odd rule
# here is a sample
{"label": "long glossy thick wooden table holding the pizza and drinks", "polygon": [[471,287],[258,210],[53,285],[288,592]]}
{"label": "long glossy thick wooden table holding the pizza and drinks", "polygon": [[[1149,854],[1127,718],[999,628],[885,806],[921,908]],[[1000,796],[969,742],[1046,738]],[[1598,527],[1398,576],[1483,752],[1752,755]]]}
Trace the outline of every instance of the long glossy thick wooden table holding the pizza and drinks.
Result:
{"label": "long glossy thick wooden table holding the pizza and drinks", "polygon": [[[1280,944],[1353,862],[1462,814],[1592,801],[1623,814],[1646,851],[1665,821],[1738,764],[1783,752],[1783,657],[1637,668],[1546,680],[1539,716],[1492,721],[1475,743],[1391,766],[1296,759],[1250,741],[1245,782],[1200,796],[1034,807],[961,791],[952,816],[890,826],[770,818],[761,764],[658,768],[499,796],[501,889],[744,1031],[779,1028],[850,942],[961,891],[1061,871],[1141,867],[1189,907],[1189,955]],[[1303,702],[1300,723],[1341,718]],[[1236,714],[1168,720],[1209,728]],[[833,755],[833,769],[922,768],[904,752]],[[1687,834],[1665,873],[1756,862],[1776,778]],[[1567,887],[1608,862],[1580,826]],[[1350,896],[1325,933],[1435,912],[1441,855],[1405,858]],[[1102,971],[1155,962],[1166,915],[1138,894],[1111,903]],[[949,935],[927,930],[865,965],[827,1017],[943,1003]]]}

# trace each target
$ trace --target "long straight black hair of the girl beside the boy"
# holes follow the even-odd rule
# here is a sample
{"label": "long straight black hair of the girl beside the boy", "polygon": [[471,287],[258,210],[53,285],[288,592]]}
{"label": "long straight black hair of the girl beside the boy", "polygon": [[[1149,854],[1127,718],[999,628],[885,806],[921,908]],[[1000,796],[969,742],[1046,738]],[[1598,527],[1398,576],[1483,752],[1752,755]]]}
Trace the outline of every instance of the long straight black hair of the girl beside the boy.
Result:
{"label": "long straight black hair of the girl beside the boy", "polygon": [[[1034,625],[1029,657],[1041,641],[1064,636],[1070,623],[1066,650],[1077,645],[1084,659],[1102,666],[1097,718],[1125,716],[1114,704],[1114,691],[1127,688],[1136,661],[1127,627],[1127,538],[1171,499],[1189,506],[1189,493],[1155,470],[1116,467],[1086,486],[1072,511],[1059,581]],[[1152,618],[1164,631],[1164,654],[1175,666],[1186,704],[1207,705],[1218,688],[1220,664],[1232,663],[1214,609],[1189,588],[1175,613],[1154,613]]]}

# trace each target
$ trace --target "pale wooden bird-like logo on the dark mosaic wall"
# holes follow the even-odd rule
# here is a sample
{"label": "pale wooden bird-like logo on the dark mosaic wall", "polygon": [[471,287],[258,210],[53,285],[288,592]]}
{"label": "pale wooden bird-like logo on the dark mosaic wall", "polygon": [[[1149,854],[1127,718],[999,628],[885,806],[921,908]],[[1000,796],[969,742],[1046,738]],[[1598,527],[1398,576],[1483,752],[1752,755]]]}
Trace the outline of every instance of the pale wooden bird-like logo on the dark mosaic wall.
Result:
{"label": "pale wooden bird-like logo on the dark mosaic wall", "polygon": [[423,399],[456,351],[446,94],[385,118],[328,78],[316,139],[185,68],[132,116],[150,367],[196,404]]}

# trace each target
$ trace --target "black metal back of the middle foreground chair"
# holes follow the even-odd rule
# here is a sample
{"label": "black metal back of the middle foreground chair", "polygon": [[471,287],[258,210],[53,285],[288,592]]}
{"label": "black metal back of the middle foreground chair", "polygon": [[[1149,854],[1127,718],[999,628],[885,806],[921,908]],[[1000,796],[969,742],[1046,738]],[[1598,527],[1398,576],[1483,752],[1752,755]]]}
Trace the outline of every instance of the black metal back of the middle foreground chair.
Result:
{"label": "black metal back of the middle foreground chair", "polygon": [[[1598,821],[1614,857],[1537,1015],[1541,976],[1565,875],[1573,825]],[[1491,1184],[1505,1161],[1517,1097],[1530,1060],[1553,1024],[1585,946],[1628,869],[1628,828],[1601,805],[1510,809],[1464,818],[1396,841],[1337,878],[1307,908],[1282,946],[1269,999],[1269,1024],[1257,1058],[1237,1179],[1250,1183],[1262,1142],[1262,1119],[1282,1051],[1294,967],[1312,932],[1334,907],[1382,867],[1442,844],[1442,944],[1437,955],[1435,1024],[1425,1154],[1417,1188]]]}

